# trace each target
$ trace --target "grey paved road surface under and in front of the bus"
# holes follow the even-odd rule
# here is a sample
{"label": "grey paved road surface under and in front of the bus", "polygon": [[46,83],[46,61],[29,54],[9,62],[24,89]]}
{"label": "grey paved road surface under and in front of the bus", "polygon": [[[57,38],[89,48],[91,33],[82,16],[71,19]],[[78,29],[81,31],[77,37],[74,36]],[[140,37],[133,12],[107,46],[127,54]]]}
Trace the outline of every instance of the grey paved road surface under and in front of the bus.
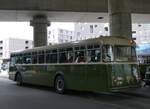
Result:
{"label": "grey paved road surface under and in front of the bus", "polygon": [[[150,88],[144,91],[149,93]],[[150,97],[85,92],[60,95],[49,88],[19,87],[0,78],[0,109],[150,109]]]}

